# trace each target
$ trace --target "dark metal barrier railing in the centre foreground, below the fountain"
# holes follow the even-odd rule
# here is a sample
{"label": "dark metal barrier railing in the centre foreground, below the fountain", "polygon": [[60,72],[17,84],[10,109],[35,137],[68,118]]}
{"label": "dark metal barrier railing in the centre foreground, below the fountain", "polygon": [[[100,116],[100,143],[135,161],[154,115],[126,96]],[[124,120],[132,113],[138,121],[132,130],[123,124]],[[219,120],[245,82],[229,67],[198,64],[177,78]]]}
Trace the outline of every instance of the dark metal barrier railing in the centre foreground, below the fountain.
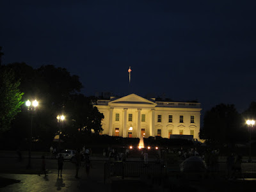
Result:
{"label": "dark metal barrier railing in the centre foreground, below the fountain", "polygon": [[162,162],[143,161],[106,161],[104,164],[104,181],[111,177],[143,177],[164,173]]}

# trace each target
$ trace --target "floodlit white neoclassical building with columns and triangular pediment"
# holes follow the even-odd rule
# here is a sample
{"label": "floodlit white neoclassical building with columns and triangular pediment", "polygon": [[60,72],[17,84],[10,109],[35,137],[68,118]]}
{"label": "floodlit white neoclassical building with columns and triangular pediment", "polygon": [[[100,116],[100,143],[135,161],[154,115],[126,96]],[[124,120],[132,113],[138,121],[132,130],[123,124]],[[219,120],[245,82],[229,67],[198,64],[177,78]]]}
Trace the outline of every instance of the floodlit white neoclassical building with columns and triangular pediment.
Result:
{"label": "floodlit white neoclassical building with columns and triangular pediment", "polygon": [[200,103],[156,101],[132,93],[97,100],[94,106],[104,114],[102,134],[124,138],[170,138],[170,134],[184,134],[199,140]]}

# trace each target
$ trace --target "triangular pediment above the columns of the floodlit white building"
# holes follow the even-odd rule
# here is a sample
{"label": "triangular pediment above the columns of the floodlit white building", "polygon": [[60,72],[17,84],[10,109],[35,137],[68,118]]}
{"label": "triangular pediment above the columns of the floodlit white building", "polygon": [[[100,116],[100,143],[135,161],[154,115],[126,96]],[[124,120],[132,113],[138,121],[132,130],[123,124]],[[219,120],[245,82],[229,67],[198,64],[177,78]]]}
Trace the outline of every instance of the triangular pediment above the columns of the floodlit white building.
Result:
{"label": "triangular pediment above the columns of the floodlit white building", "polygon": [[143,97],[140,97],[139,95],[136,95],[134,93],[127,95],[125,97],[121,97],[119,99],[112,100],[109,102],[109,104],[146,104],[146,105],[152,105],[156,106],[155,102],[152,102],[151,100],[145,99]]}

